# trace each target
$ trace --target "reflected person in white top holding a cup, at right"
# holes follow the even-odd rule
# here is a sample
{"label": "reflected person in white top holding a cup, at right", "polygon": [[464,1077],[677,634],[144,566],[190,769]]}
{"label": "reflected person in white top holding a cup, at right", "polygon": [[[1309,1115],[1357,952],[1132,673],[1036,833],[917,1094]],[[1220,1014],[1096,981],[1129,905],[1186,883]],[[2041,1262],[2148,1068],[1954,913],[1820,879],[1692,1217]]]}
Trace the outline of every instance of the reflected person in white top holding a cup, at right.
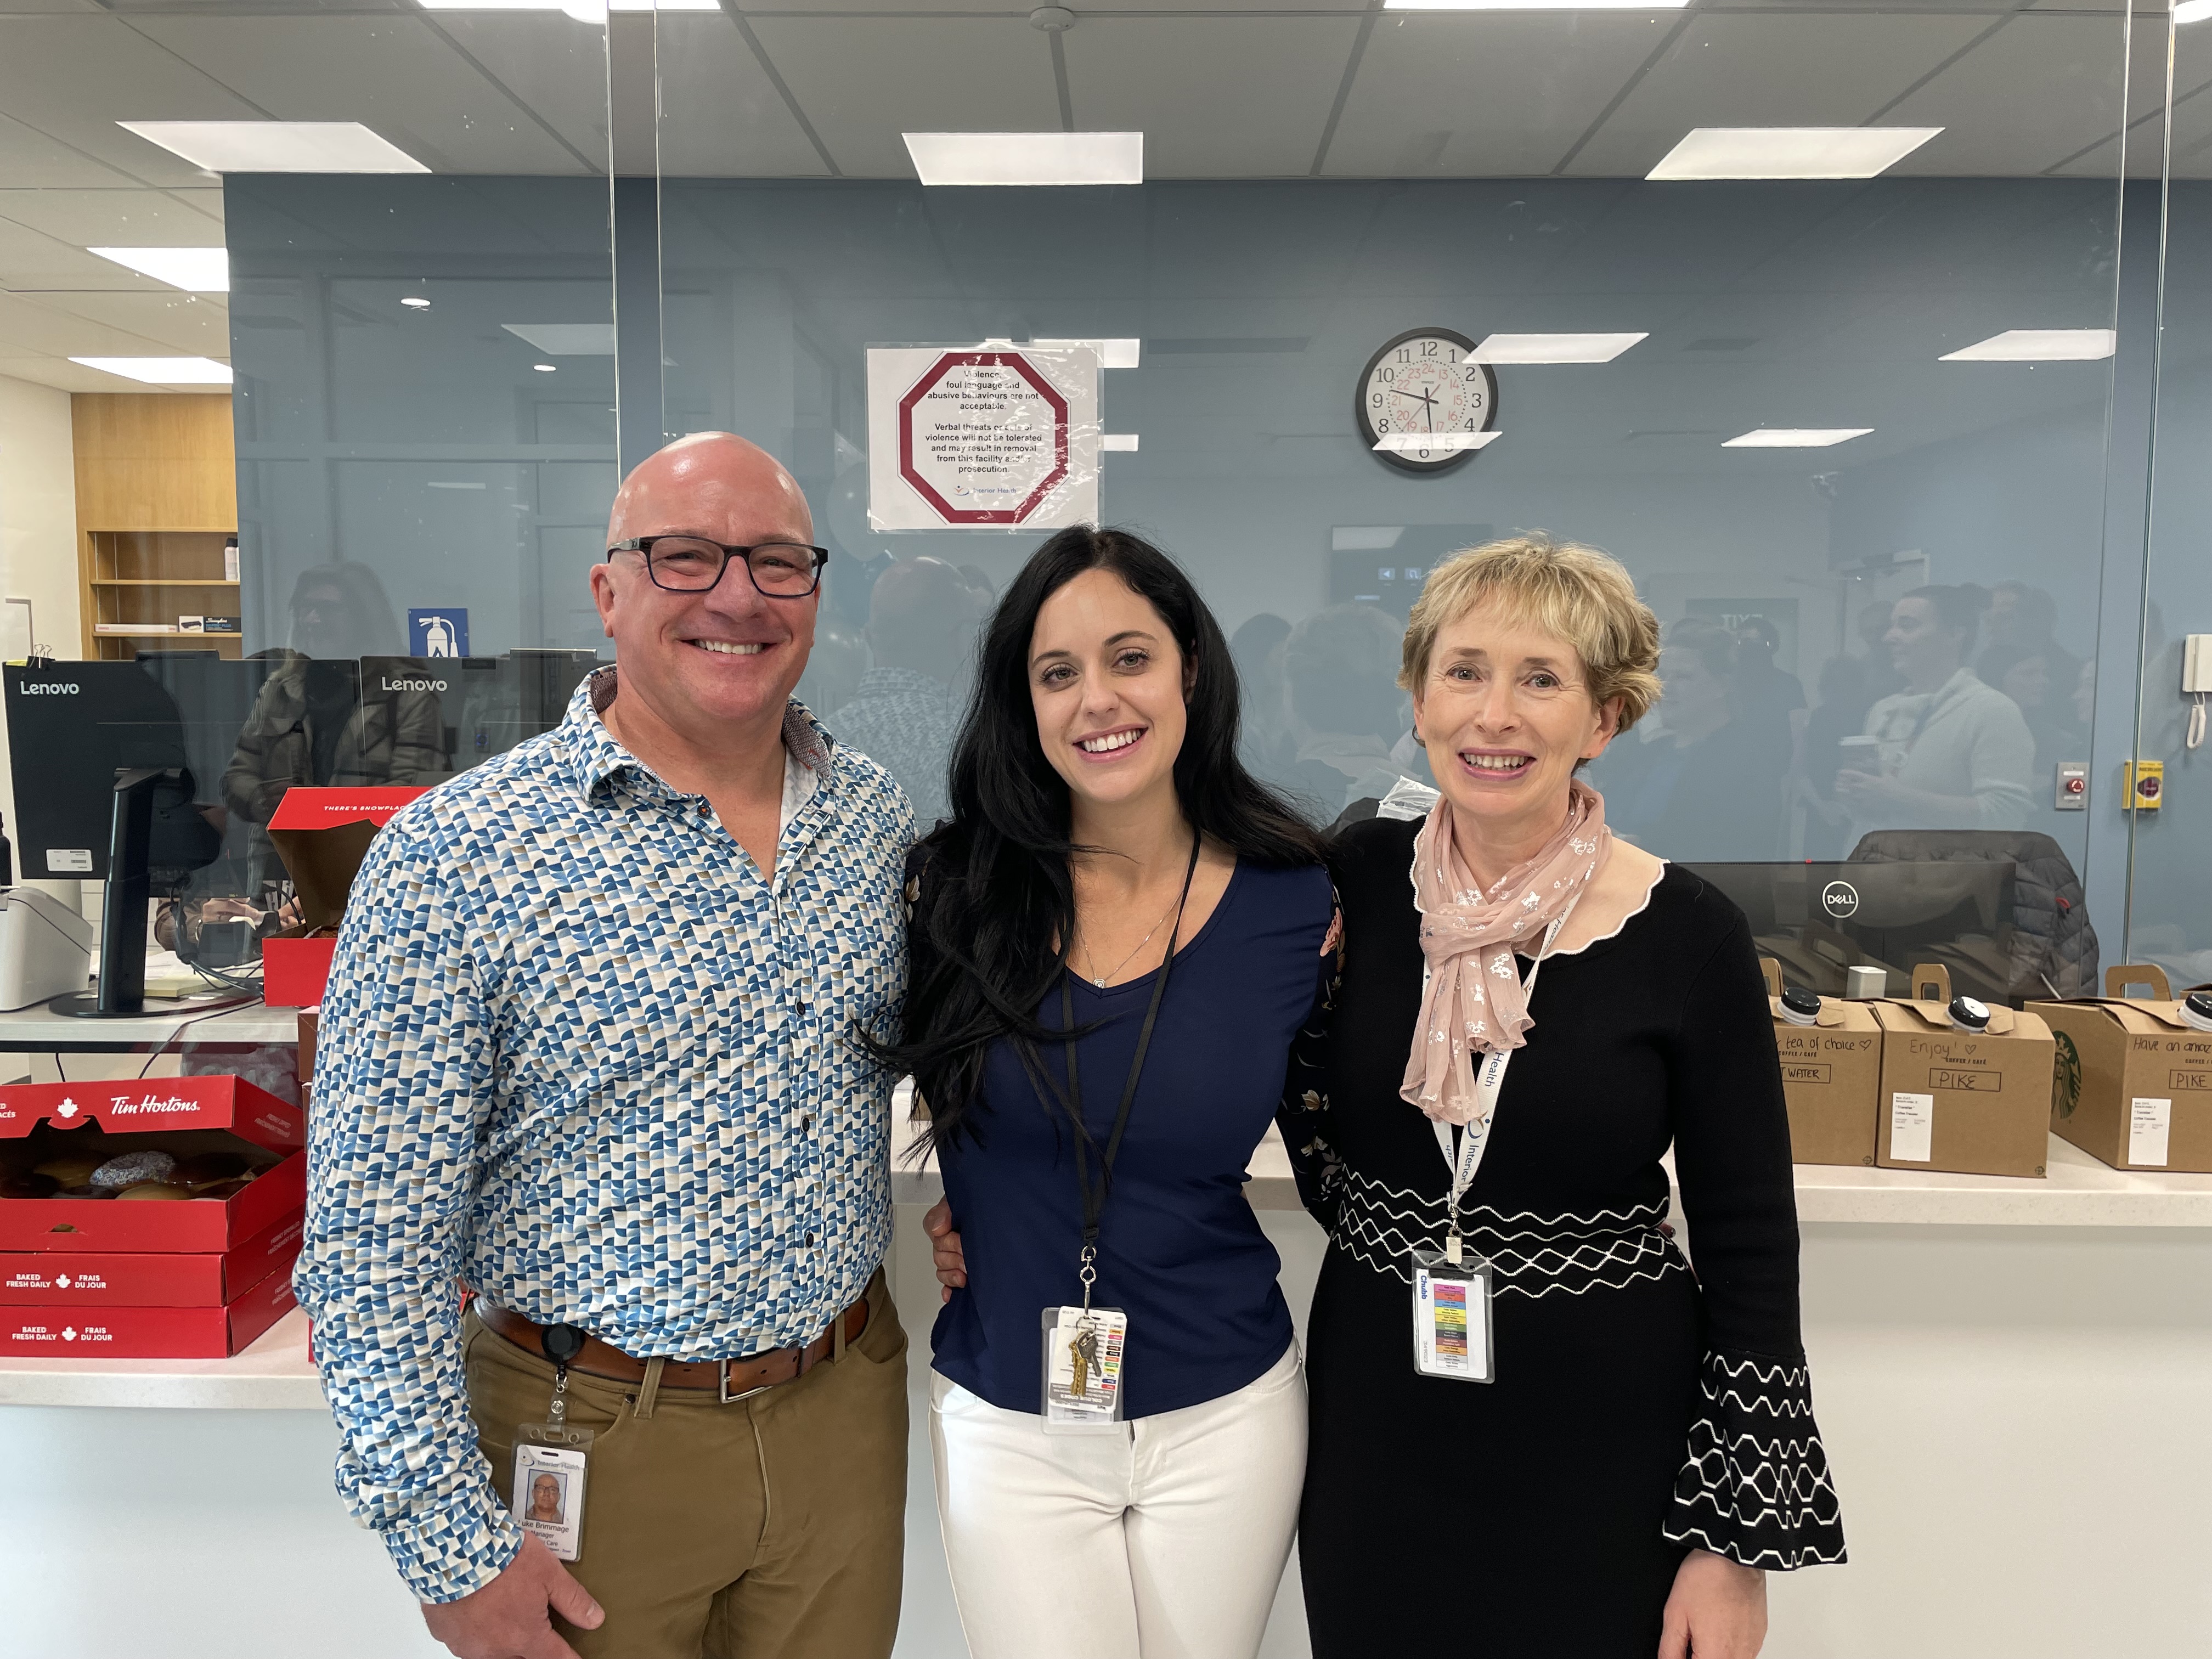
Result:
{"label": "reflected person in white top holding a cup, at right", "polygon": [[2035,737],[1966,657],[1989,591],[1924,586],[1889,613],[1889,664],[1905,681],[1867,710],[1876,770],[1845,768],[1836,799],[1849,841],[1871,830],[2020,830],[2028,821]]}

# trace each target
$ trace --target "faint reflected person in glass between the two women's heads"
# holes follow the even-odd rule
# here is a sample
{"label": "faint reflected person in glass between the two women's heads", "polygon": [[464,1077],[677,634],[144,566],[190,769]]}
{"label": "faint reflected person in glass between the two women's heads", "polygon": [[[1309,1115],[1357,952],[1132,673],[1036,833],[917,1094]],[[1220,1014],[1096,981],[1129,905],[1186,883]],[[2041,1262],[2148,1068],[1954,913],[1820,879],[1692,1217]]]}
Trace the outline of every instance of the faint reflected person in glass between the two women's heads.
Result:
{"label": "faint reflected person in glass between the two women's heads", "polygon": [[1398,624],[1371,604],[1316,611],[1283,641],[1298,737],[1283,783],[1321,823],[1398,783],[1391,743],[1405,732],[1405,697],[1394,681],[1396,641]]}

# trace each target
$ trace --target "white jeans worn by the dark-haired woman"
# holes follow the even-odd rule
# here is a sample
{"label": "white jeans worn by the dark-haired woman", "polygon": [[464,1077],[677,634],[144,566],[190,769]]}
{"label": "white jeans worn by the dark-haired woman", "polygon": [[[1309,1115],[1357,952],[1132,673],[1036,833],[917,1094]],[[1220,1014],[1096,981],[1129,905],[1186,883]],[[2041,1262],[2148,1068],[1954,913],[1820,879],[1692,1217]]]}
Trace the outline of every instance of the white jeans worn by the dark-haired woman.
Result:
{"label": "white jeans worn by the dark-haired woman", "polygon": [[938,1524],[973,1659],[1252,1659],[1298,1528],[1292,1343],[1219,1400],[1044,1433],[929,1378]]}

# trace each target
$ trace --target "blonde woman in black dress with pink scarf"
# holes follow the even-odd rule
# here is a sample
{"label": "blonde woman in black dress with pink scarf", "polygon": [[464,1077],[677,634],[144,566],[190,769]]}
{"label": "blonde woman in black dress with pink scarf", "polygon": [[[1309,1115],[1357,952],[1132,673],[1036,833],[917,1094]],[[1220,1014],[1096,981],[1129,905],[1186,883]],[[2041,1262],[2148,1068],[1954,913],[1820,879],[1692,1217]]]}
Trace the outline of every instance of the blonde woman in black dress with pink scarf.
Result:
{"label": "blonde woman in black dress with pink scarf", "polygon": [[1447,560],[1413,606],[1400,686],[1442,796],[1345,832],[1340,978],[1283,1110],[1332,1239],[1316,1659],[1752,1659],[1765,1573],[1843,1559],[1750,929],[1577,779],[1657,659],[1628,573],[1542,535]]}

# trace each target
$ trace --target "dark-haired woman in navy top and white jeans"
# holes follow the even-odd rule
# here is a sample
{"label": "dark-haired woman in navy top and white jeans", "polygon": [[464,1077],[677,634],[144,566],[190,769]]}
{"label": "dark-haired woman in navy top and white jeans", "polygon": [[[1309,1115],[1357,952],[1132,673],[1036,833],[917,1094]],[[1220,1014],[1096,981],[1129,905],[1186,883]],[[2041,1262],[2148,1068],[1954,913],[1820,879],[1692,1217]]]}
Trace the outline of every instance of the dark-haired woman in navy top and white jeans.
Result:
{"label": "dark-haired woman in navy top and white jeans", "polygon": [[931,1444],[969,1650],[1252,1655],[1305,1380],[1241,1186],[1321,984],[1316,841],[1237,759],[1190,580],[1117,531],[1055,535],[1000,602],[951,803],[894,1057],[964,1234]]}

